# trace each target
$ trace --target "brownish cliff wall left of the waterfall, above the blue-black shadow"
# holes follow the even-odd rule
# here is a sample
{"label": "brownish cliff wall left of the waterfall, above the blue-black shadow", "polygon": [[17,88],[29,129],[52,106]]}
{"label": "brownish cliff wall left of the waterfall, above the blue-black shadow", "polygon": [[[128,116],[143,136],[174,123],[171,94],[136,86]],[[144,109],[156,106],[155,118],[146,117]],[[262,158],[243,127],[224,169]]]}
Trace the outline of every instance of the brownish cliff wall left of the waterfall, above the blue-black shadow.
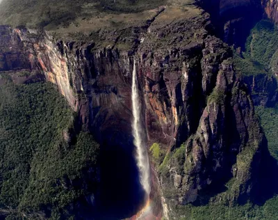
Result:
{"label": "brownish cliff wall left of the waterfall, above the blue-black shadow", "polygon": [[[99,125],[106,126],[103,120],[114,118],[113,123],[124,124],[122,132],[129,133],[131,112],[126,109],[131,107],[131,88],[126,86],[130,80],[127,54],[106,49],[92,53],[92,45],[54,42],[47,33],[40,38],[38,35],[36,31],[1,26],[1,71],[26,70],[34,76],[41,75],[57,84],[87,127],[90,124],[99,129]],[[96,110],[100,107],[104,115]]]}

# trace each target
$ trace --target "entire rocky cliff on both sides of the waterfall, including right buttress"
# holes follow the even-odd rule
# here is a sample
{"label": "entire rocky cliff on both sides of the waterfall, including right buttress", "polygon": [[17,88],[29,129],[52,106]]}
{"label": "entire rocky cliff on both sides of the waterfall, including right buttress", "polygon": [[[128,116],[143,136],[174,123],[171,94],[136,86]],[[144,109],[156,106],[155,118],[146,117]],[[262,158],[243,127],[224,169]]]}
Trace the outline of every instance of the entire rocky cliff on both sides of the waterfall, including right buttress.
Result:
{"label": "entire rocky cliff on both sides of the waterfall, including right buttress", "polygon": [[[250,1],[221,1],[220,15],[237,3],[249,6]],[[263,147],[231,49],[208,33],[208,14],[187,10],[187,15],[176,8],[159,10],[131,29],[129,49],[116,44],[99,49],[94,39],[55,40],[44,32],[0,27],[0,71],[10,72],[15,82],[15,72],[26,70],[31,74],[20,81],[56,84],[106,149],[132,150],[131,73],[136,61],[149,146],[157,142],[167,152],[154,171],[158,183],[153,185],[160,190],[152,195],[161,194],[165,216],[171,219],[179,219],[171,212],[176,205],[198,203],[206,190],[219,192],[232,179],[227,200],[249,198]],[[126,42],[122,35],[116,39],[117,45]]]}

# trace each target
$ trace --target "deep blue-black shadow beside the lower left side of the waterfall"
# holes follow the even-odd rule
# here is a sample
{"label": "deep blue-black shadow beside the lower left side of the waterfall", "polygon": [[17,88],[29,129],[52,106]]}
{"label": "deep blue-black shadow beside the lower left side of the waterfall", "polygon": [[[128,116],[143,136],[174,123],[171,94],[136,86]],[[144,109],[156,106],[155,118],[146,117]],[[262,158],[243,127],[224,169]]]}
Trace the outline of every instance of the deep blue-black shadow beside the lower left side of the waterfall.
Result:
{"label": "deep blue-black shadow beside the lower left side of the waterfall", "polygon": [[132,217],[142,208],[145,190],[133,157],[133,144],[125,147],[111,143],[101,146],[100,190],[95,195],[94,219],[118,220]]}

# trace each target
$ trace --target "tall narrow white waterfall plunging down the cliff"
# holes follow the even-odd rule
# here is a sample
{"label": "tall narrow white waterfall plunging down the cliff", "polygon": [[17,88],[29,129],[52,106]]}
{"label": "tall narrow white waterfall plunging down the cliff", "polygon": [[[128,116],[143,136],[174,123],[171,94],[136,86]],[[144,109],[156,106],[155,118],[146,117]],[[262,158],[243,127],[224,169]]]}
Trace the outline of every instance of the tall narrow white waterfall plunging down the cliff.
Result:
{"label": "tall narrow white waterfall plunging down the cliff", "polygon": [[134,136],[134,145],[136,146],[136,161],[140,172],[140,182],[143,189],[149,198],[151,191],[150,186],[150,168],[149,168],[149,157],[147,155],[147,144],[145,143],[145,129],[142,127],[141,120],[141,103],[138,92],[138,81],[136,73],[136,61],[133,60],[133,74],[132,74],[132,113],[133,123],[132,132]]}

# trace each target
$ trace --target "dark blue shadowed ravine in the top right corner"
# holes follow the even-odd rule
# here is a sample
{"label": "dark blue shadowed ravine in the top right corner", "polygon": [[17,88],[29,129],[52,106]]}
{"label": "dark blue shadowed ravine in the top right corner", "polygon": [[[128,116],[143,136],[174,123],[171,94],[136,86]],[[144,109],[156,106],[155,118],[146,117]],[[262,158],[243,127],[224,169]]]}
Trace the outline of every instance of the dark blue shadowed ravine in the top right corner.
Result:
{"label": "dark blue shadowed ravine in the top right corner", "polygon": [[262,18],[278,22],[276,0],[198,0],[211,15],[215,34],[230,45],[244,47],[256,22]]}

